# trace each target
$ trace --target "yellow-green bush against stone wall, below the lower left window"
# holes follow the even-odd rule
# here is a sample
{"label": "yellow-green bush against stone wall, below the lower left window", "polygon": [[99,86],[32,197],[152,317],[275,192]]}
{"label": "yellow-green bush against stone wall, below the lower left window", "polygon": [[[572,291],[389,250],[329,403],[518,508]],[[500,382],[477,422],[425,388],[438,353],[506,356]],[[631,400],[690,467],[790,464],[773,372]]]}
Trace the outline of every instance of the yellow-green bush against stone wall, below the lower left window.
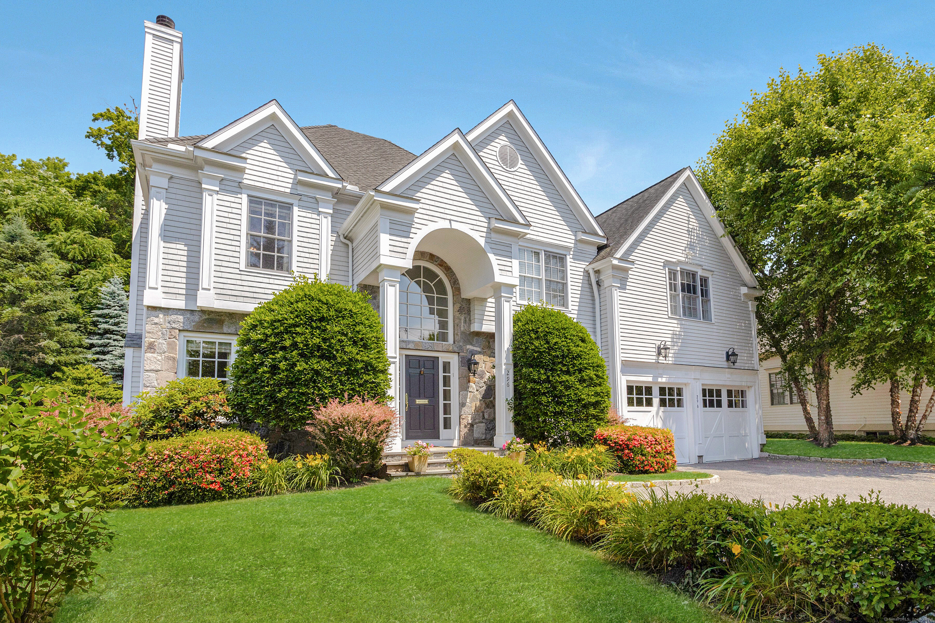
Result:
{"label": "yellow-green bush against stone wall, below the lower left window", "polygon": [[194,376],[183,376],[159,389],[143,391],[137,395],[133,409],[140,433],[152,439],[214,431],[231,414],[223,381]]}

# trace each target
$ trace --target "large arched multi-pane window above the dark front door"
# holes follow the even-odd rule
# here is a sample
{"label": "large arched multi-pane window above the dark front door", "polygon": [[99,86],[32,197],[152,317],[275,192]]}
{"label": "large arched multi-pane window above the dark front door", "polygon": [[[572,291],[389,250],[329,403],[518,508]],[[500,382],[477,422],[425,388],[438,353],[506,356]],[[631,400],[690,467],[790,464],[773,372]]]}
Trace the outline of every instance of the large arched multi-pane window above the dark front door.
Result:
{"label": "large arched multi-pane window above the dark front door", "polygon": [[444,279],[428,266],[416,264],[399,280],[399,337],[404,340],[449,342],[451,298]]}

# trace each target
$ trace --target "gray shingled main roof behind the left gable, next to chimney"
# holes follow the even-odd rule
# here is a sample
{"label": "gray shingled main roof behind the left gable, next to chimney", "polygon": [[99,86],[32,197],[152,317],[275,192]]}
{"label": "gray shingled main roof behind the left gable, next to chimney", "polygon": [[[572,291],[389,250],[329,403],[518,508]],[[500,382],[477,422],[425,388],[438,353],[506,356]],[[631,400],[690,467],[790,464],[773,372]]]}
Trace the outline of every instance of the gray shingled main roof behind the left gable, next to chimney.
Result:
{"label": "gray shingled main roof behind the left gable, next to chimney", "polygon": [[[362,135],[337,125],[309,125],[299,128],[338,175],[361,191],[370,191],[413,160],[415,154],[385,138]],[[157,145],[192,147],[209,135],[168,136],[146,139]]]}

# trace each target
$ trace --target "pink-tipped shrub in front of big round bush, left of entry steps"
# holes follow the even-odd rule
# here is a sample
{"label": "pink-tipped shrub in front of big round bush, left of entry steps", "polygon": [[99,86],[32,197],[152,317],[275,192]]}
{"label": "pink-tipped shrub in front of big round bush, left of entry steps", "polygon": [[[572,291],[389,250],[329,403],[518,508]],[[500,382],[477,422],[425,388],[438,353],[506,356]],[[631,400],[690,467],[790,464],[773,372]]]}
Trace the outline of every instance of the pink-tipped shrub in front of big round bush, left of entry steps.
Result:
{"label": "pink-tipped shrub in front of big round bush, left of entry steps", "polygon": [[380,469],[386,444],[397,431],[393,409],[360,398],[342,404],[336,398],[313,413],[309,436],[348,482]]}

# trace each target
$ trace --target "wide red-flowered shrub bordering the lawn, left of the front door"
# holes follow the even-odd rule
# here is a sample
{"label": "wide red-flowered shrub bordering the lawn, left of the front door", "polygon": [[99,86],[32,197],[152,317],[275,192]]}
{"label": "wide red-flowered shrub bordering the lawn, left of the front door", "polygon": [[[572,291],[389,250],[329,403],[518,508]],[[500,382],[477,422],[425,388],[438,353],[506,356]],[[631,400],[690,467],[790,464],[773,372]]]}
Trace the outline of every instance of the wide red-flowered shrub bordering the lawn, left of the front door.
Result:
{"label": "wide red-flowered shrub bordering the lawn, left of the front door", "polygon": [[239,431],[192,432],[149,445],[130,466],[130,506],[213,502],[259,495],[266,444]]}

